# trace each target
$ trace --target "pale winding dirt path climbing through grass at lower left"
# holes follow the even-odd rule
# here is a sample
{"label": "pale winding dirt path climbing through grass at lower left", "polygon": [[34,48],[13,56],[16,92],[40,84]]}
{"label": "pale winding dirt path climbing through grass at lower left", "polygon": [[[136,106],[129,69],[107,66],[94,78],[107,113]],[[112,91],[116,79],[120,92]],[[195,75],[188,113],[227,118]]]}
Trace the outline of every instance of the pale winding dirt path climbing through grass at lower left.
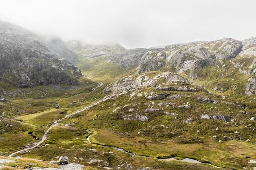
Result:
{"label": "pale winding dirt path climbing through grass at lower left", "polygon": [[80,112],[86,111],[86,110],[92,108],[93,106],[97,105],[98,103],[104,102],[104,101],[109,100],[109,99],[112,99],[113,97],[115,97],[115,95],[106,96],[106,97],[104,97],[103,99],[101,99],[101,100],[99,100],[99,101],[97,101],[97,102],[95,102],[95,103],[93,103],[93,104],[91,104],[91,105],[89,105],[89,106],[87,106],[87,107],[84,107],[84,108],[81,109],[81,110],[78,110],[78,111],[76,111],[76,112],[74,112],[74,113],[71,113],[71,114],[66,115],[65,117],[63,117],[63,118],[61,118],[61,119],[56,120],[54,123],[50,124],[50,127],[44,132],[44,134],[43,134],[43,136],[42,136],[42,139],[41,139],[39,142],[35,143],[34,146],[29,147],[29,148],[22,149],[22,150],[20,150],[20,151],[16,151],[16,152],[10,154],[8,157],[13,157],[14,155],[16,155],[16,154],[18,154],[18,153],[21,153],[21,152],[24,152],[24,151],[28,151],[28,150],[31,150],[31,149],[34,149],[34,148],[38,147],[39,145],[41,145],[41,144],[47,139],[47,135],[48,135],[48,133],[50,132],[50,130],[51,130],[53,127],[57,126],[61,120],[66,119],[66,118],[68,118],[68,117],[71,117],[71,116],[73,116],[73,115],[76,115],[76,114],[78,114],[78,113],[80,113]]}

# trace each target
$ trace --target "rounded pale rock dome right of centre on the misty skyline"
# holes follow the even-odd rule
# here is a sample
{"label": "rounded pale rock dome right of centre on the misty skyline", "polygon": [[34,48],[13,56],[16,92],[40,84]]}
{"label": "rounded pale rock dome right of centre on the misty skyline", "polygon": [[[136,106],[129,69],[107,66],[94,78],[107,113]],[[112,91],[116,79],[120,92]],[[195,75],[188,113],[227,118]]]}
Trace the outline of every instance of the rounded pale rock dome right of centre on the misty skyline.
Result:
{"label": "rounded pale rock dome right of centre on the misty skyline", "polygon": [[208,65],[214,65],[217,59],[234,58],[241,48],[240,41],[230,38],[169,45],[163,49],[155,49],[146,53],[139,63],[137,73],[165,68],[177,72],[189,72],[190,77],[196,79],[195,71]]}

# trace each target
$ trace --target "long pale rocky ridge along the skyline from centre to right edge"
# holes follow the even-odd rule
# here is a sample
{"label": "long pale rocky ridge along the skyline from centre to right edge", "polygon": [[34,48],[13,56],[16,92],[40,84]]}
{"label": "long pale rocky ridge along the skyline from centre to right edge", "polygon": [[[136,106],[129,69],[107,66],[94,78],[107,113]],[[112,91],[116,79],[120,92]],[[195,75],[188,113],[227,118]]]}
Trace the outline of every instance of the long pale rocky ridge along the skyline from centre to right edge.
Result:
{"label": "long pale rocky ridge along the skyline from centre to right edge", "polygon": [[[137,74],[149,71],[176,71],[192,79],[200,77],[205,68],[224,68],[228,63],[232,63],[233,68],[227,69],[238,69],[249,75],[248,83],[243,88],[245,94],[252,95],[256,93],[255,47],[256,38],[252,37],[243,41],[223,38],[207,42],[173,44],[155,49],[126,50],[120,46],[84,47],[81,44],[80,47],[71,49],[79,51],[81,58],[96,61],[101,57],[105,62],[121,66],[123,69],[135,69]],[[97,59],[93,59],[94,57]]]}

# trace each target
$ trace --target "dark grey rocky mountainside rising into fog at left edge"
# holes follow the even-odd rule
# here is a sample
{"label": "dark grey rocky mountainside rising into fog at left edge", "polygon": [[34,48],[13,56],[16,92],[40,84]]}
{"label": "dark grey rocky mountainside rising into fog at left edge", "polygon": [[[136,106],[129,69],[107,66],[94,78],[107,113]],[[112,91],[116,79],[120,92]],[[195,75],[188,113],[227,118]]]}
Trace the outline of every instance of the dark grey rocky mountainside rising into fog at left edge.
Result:
{"label": "dark grey rocky mountainside rising into fog at left edge", "polygon": [[58,60],[29,30],[0,22],[0,80],[18,87],[78,85],[79,69]]}

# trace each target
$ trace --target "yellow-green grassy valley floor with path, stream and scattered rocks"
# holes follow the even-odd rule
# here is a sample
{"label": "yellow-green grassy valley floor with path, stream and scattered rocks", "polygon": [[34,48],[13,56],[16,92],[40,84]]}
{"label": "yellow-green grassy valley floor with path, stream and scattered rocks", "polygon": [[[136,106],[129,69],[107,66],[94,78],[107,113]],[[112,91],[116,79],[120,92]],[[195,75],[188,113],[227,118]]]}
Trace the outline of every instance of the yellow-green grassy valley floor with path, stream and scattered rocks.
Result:
{"label": "yellow-green grassy valley floor with path, stream and scattered rocks", "polygon": [[[0,117],[0,153],[5,156],[3,159],[14,160],[1,165],[20,169],[60,168],[48,163],[65,155],[70,163],[84,165],[83,169],[88,170],[254,168],[255,164],[248,162],[256,160],[252,132],[255,123],[237,114],[243,109],[225,103],[220,95],[196,87],[197,92],[168,91],[169,96],[179,96],[177,99],[151,101],[144,94],[165,91],[146,87],[128,93],[104,94],[106,85],[83,81],[85,85],[75,90],[62,87],[51,92],[50,86],[22,89],[24,96],[1,103],[5,113]],[[174,86],[174,83],[165,85]],[[33,90],[32,96],[27,95],[29,90]],[[42,93],[45,97],[41,98]],[[219,102],[198,101],[202,96]],[[225,100],[235,102],[233,98]],[[237,122],[201,119],[202,114],[211,110],[231,115],[243,123],[236,126]],[[150,119],[138,120],[141,116]],[[186,123],[188,118],[193,118],[192,122]],[[236,138],[235,131],[240,132],[243,140]],[[250,142],[245,141],[249,138]],[[23,163],[16,156],[42,160],[43,164]]]}

